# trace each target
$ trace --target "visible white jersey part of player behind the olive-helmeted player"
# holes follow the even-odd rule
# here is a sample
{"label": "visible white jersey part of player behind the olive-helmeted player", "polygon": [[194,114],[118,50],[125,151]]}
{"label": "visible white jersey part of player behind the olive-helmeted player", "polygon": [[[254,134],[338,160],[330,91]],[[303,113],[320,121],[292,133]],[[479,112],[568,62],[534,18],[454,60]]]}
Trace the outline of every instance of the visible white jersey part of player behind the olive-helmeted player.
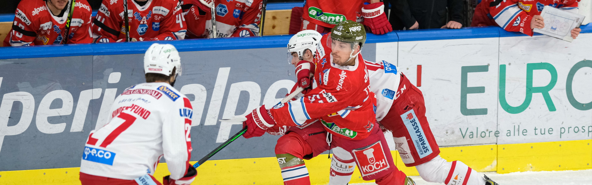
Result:
{"label": "visible white jersey part of player behind the olive-helmeted player", "polygon": [[381,121],[399,97],[397,89],[401,82],[401,72],[397,72],[397,66],[384,60],[380,63],[368,60],[364,62],[370,78],[370,90],[376,94],[376,120]]}

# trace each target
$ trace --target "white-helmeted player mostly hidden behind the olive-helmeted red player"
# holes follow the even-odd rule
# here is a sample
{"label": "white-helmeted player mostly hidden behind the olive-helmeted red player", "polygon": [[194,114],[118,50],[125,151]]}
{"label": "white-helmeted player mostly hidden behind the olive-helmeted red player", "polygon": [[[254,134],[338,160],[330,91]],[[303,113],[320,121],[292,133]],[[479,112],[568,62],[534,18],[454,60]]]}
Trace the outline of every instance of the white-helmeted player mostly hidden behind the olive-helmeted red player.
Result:
{"label": "white-helmeted player mostly hidden behind the olive-helmeted red player", "polygon": [[[313,53],[318,58],[325,55],[322,50],[323,47],[317,46],[317,44],[323,44],[325,41],[321,40],[318,33],[310,34],[311,31],[314,30],[305,30],[295,34],[288,44],[288,47],[293,46],[289,47],[288,60],[295,66],[300,60],[312,60]],[[304,37],[303,34],[305,34]],[[300,37],[297,37],[299,35]],[[320,42],[312,42],[313,40]],[[497,185],[487,176],[482,176],[461,161],[448,162],[440,157],[439,146],[427,123],[426,109],[421,91],[411,84],[403,73],[397,71],[395,65],[384,60],[380,63],[367,60],[365,62],[370,80],[370,90],[375,92],[377,98],[377,107],[375,109],[377,121],[383,131],[392,132],[397,145],[396,149],[407,167],[416,167],[424,180],[433,183]],[[301,69],[303,67],[299,65],[297,69],[303,71]],[[307,87],[301,84],[315,84],[314,82],[301,83],[314,79],[308,77],[308,75],[297,74],[297,76],[299,78],[298,83],[292,88],[292,91],[299,86]],[[284,130],[287,129],[268,130],[268,133],[282,135],[285,132]],[[412,131],[413,133],[410,133]],[[422,138],[417,138],[418,135]],[[420,139],[417,146],[415,144],[416,139]],[[331,163],[329,184],[348,184],[355,165],[356,163],[351,155],[335,150]]]}

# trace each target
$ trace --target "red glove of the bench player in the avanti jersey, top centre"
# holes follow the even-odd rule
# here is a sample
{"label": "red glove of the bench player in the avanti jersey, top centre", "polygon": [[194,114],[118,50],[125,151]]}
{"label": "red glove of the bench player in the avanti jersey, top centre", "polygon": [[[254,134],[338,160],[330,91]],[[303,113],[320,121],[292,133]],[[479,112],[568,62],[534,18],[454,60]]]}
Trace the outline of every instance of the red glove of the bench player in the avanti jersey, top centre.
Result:
{"label": "red glove of the bench player in the avanti jersey, top centre", "polygon": [[374,34],[385,34],[392,31],[391,23],[388,22],[387,14],[384,13],[384,3],[364,3],[362,7],[363,25],[368,27]]}

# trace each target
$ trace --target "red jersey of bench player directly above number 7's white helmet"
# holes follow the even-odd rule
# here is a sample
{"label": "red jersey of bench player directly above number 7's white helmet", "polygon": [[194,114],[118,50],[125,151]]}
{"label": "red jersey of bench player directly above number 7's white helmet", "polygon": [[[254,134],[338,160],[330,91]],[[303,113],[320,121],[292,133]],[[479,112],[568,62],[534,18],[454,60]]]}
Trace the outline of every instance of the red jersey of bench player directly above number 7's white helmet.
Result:
{"label": "red jersey of bench player directly above number 7's white helmet", "polygon": [[187,25],[179,0],[148,0],[143,6],[133,0],[103,0],[92,22],[95,42],[126,39],[123,1],[127,1],[130,39],[185,39]]}

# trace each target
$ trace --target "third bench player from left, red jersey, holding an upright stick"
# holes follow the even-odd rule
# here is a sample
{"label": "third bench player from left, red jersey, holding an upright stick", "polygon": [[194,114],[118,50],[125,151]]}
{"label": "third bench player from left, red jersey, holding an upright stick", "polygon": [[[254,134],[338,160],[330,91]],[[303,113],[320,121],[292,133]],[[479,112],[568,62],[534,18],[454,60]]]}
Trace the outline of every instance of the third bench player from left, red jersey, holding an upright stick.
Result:
{"label": "third bench player from left, red jersey, holding an upright stick", "polygon": [[184,9],[188,39],[214,37],[210,12],[214,2],[218,38],[259,35],[262,0],[185,0],[185,5],[192,5]]}

